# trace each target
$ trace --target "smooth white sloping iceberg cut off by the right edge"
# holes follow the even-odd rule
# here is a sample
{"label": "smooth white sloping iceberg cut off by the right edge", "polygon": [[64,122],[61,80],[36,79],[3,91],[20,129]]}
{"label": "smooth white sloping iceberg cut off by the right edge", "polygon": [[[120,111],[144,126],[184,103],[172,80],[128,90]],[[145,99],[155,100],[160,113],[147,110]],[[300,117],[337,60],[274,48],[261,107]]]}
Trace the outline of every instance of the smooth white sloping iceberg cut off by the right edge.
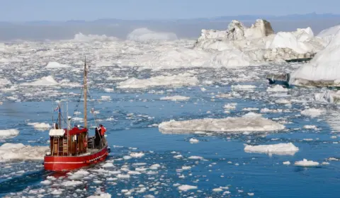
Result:
{"label": "smooth white sloping iceberg cut off by the right edge", "polygon": [[329,45],[318,52],[310,63],[300,66],[290,76],[290,83],[307,86],[340,85],[340,28]]}

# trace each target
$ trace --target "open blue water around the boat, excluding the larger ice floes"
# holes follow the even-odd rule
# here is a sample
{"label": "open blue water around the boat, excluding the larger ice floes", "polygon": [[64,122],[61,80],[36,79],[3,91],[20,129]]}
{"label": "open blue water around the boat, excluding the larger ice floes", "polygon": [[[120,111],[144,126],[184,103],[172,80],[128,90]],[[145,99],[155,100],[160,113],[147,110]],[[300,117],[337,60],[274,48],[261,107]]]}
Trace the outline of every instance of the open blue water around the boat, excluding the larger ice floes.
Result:
{"label": "open blue water around the boat, excluding the larger ice floes", "polygon": [[[149,168],[159,164],[159,168],[148,169],[140,175],[130,178],[117,178],[108,172],[99,172],[98,164],[87,169],[89,179],[79,179],[80,185],[64,186],[68,175],[58,175],[43,170],[42,161],[7,161],[0,163],[0,197],[89,197],[96,192],[107,192],[113,197],[339,197],[340,194],[340,161],[329,161],[329,158],[340,158],[340,145],[336,131],[330,126],[329,117],[336,112],[336,107],[317,104],[327,111],[318,117],[300,115],[305,106],[313,104],[292,103],[280,105],[275,103],[280,97],[271,97],[266,93],[266,82],[250,81],[245,84],[256,86],[254,91],[238,91],[241,97],[217,98],[217,93],[231,91],[231,85],[214,84],[200,87],[157,88],[153,91],[120,91],[106,93],[101,89],[92,89],[89,107],[94,106],[100,113],[99,122],[89,117],[91,126],[103,124],[107,132],[111,153],[107,161],[114,167],[103,168],[107,171],[122,168],[134,170],[136,167]],[[77,89],[69,92],[79,93]],[[162,91],[162,92],[160,92]],[[289,91],[290,98],[298,99],[309,91],[299,88]],[[213,94],[212,94],[213,93]],[[111,100],[99,100],[101,95],[111,96]],[[188,101],[174,102],[159,100],[165,95],[183,95]],[[69,98],[69,112],[72,115],[77,105],[78,96]],[[55,98],[59,99],[59,98]],[[223,106],[237,103],[235,110],[226,114]],[[20,134],[11,139],[2,139],[4,143],[22,143],[30,146],[48,146],[48,132],[38,131],[28,122],[50,123],[53,105],[51,100],[40,98],[22,102],[6,101],[0,105],[1,129],[18,129]],[[267,134],[162,134],[152,124],[169,120],[192,120],[205,117],[238,117],[245,115],[245,107],[263,107],[283,109],[278,113],[266,113],[275,121],[285,121],[286,129]],[[81,110],[81,105],[79,106]],[[255,110],[254,112],[258,112]],[[132,115],[133,114],[133,115]],[[81,117],[81,115],[75,115]],[[112,119],[109,119],[112,118]],[[317,130],[304,129],[305,125],[315,125]],[[91,129],[93,130],[93,129]],[[331,133],[333,132],[333,133]],[[189,139],[195,137],[198,144],[191,144]],[[304,140],[305,139],[305,140]],[[306,139],[312,139],[307,141]],[[268,155],[266,153],[246,153],[244,144],[278,144],[292,142],[300,150],[293,156]],[[124,159],[131,152],[142,152],[142,158]],[[174,158],[182,155],[183,158]],[[200,156],[203,159],[189,159]],[[329,165],[314,168],[303,168],[294,165],[303,158]],[[283,162],[290,161],[290,165]],[[142,163],[142,164],[136,164]],[[179,170],[190,166],[189,170]],[[43,185],[42,181],[57,177],[52,185]],[[113,180],[108,180],[113,178]],[[100,182],[98,182],[100,181]],[[186,192],[178,189],[179,185],[197,187]],[[145,192],[137,192],[145,187]],[[222,192],[214,189],[225,187]],[[135,189],[135,190],[132,190]],[[61,194],[52,194],[59,190]],[[123,191],[122,191],[123,190]],[[130,190],[131,194],[125,194]]]}

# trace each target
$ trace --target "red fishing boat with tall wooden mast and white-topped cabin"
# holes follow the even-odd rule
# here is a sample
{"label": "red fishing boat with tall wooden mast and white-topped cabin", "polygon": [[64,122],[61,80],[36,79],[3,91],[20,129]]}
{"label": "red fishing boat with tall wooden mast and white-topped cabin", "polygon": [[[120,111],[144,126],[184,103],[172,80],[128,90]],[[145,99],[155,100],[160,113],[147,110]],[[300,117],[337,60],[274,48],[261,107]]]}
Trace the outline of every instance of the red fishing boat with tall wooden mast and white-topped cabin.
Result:
{"label": "red fishing boat with tall wooden mast and white-topped cabin", "polygon": [[[87,74],[86,59],[84,64],[84,127],[79,125],[71,127],[72,117],[62,120],[61,105],[55,109],[58,112],[57,122],[50,129],[50,150],[46,151],[44,158],[45,170],[67,171],[105,161],[110,148],[101,129],[96,128],[95,136],[89,136],[87,128]],[[64,122],[62,122],[64,121]],[[67,127],[62,127],[62,123]]]}

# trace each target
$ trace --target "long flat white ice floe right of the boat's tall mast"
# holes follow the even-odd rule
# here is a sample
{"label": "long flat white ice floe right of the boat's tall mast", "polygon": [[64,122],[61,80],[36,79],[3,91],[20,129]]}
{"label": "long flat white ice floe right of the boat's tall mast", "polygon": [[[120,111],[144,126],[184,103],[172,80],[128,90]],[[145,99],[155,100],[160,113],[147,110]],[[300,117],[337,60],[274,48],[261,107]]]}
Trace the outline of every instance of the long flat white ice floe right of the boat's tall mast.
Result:
{"label": "long flat white ice floe right of the boat's tall mast", "polygon": [[198,79],[192,74],[184,73],[174,76],[154,76],[147,79],[130,78],[118,83],[118,88],[149,88],[157,86],[178,87],[195,86]]}

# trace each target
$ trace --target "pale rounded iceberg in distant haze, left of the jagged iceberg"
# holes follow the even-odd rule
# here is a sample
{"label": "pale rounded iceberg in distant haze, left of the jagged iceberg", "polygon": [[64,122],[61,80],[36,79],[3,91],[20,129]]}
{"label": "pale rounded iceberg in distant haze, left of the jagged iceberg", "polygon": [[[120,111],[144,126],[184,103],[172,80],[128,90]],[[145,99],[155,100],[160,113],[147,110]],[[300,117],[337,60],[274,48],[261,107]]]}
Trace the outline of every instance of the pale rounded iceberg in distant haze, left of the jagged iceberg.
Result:
{"label": "pale rounded iceberg in distant haze, left of the jagged iceberg", "polygon": [[147,28],[138,28],[129,33],[127,39],[137,41],[177,40],[177,36],[174,33],[160,33]]}

